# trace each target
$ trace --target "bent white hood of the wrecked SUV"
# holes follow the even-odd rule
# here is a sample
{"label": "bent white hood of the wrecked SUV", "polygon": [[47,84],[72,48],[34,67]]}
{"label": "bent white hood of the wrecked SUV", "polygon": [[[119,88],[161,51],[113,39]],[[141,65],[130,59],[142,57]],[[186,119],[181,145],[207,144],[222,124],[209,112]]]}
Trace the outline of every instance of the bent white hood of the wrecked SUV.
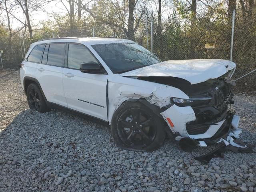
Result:
{"label": "bent white hood of the wrecked SUV", "polygon": [[236,67],[221,59],[169,60],[120,74],[121,76],[178,77],[191,84],[218,78]]}

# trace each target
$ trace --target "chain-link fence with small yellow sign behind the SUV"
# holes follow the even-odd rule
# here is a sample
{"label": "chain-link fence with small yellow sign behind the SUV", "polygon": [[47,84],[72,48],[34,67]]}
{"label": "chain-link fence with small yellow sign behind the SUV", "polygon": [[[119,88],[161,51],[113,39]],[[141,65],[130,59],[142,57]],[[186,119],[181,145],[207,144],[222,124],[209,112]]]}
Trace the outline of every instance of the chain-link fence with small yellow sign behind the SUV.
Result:
{"label": "chain-link fence with small yellow sign behind the SUV", "polygon": [[[34,33],[33,39],[28,38],[26,34],[19,34],[18,30],[13,31],[10,38],[6,31],[4,35],[0,35],[3,66],[18,68],[32,42],[67,36],[129,38],[156,53],[162,60],[203,58],[230,60],[232,18],[218,22],[202,18],[191,23],[176,19],[162,26],[158,26],[158,23],[151,19],[145,19],[140,22],[136,31],[132,32],[104,23],[82,28],[60,28],[57,31],[41,29]],[[255,17],[250,16],[245,19],[237,14],[232,57],[237,64],[235,79],[256,69],[255,36]],[[252,73],[241,81],[256,82],[255,77],[256,73]]]}

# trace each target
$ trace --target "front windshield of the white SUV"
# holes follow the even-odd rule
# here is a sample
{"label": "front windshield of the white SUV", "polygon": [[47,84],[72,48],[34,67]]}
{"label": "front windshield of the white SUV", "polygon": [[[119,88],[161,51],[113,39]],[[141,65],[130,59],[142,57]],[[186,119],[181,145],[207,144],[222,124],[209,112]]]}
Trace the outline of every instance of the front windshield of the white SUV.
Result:
{"label": "front windshield of the white SUV", "polygon": [[124,73],[161,62],[161,60],[136,43],[111,43],[92,45],[113,73]]}

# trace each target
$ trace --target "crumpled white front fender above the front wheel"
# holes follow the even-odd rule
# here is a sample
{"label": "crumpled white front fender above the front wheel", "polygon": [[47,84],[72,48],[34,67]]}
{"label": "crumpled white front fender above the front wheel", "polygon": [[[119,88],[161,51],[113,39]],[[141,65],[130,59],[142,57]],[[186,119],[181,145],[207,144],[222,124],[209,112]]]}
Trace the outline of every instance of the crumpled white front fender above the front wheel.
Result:
{"label": "crumpled white front fender above the front wheel", "polygon": [[144,98],[162,108],[171,104],[171,97],[189,98],[172,86],[113,75],[108,79],[108,122],[111,122],[115,110],[127,100]]}

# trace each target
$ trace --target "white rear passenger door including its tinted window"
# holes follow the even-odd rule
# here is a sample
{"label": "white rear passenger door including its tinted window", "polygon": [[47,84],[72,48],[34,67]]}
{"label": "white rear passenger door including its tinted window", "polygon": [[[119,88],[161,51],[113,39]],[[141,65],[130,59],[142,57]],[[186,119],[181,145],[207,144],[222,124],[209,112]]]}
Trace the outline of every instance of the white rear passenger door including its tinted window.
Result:
{"label": "white rear passenger door including its tinted window", "polygon": [[48,102],[67,106],[62,84],[66,43],[46,44],[36,77]]}

